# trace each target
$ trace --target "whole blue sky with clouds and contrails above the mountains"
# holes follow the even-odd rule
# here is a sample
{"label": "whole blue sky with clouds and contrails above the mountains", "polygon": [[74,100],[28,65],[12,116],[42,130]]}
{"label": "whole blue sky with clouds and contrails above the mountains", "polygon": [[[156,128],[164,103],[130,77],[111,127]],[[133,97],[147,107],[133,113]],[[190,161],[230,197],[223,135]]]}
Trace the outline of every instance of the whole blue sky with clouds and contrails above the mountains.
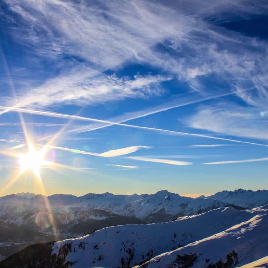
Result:
{"label": "whole blue sky with clouds and contrails above the mountains", "polygon": [[0,196],[268,189],[267,14],[267,0],[2,0]]}

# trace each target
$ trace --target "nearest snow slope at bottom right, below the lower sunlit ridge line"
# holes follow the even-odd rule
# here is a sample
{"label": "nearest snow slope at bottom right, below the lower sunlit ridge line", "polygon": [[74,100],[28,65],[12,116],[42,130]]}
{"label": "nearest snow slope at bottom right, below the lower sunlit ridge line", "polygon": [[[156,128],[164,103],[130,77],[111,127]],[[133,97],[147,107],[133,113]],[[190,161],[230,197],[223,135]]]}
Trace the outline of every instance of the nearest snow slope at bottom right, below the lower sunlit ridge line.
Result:
{"label": "nearest snow slope at bottom right, below the lower sunlit ridge line", "polygon": [[[268,214],[259,214],[213,236],[152,258],[139,268],[168,268],[191,261],[191,268],[247,264],[268,254]],[[175,266],[176,267],[176,266]]]}

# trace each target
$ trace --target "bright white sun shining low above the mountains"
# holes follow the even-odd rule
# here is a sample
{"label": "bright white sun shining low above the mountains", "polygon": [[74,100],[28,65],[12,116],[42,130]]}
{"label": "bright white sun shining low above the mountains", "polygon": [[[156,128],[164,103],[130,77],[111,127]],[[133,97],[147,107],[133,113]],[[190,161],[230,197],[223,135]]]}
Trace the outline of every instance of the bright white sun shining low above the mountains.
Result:
{"label": "bright white sun shining low above the mountains", "polygon": [[32,144],[29,144],[28,148],[29,151],[26,154],[18,155],[21,172],[31,170],[39,177],[40,168],[49,164],[49,162],[44,159],[45,150],[37,151]]}

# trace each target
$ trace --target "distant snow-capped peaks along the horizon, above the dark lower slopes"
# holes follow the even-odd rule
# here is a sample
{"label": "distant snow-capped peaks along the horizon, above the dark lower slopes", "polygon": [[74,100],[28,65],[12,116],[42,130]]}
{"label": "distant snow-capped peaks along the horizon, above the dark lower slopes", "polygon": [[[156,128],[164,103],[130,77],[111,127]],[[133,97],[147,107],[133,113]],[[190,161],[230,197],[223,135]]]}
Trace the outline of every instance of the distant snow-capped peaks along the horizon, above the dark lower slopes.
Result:
{"label": "distant snow-capped peaks along the horizon, above the dark lower slopes", "polygon": [[[81,214],[92,210],[99,210],[120,216],[138,218],[147,223],[172,220],[178,216],[200,214],[214,208],[235,205],[241,208],[253,208],[268,204],[267,190],[235,190],[222,191],[209,197],[190,198],[183,197],[168,191],[159,191],[155,194],[142,195],[114,195],[111,193],[86,194],[84,196],[56,194],[49,197],[42,195],[12,194],[0,197],[0,219],[7,219],[5,213],[8,209],[16,211],[19,208],[21,215],[35,214],[46,210],[49,203],[54,214],[59,215],[59,221],[71,222],[69,214],[79,218]],[[18,209],[17,209],[18,210]],[[93,215],[95,218],[96,215]],[[99,215],[102,216],[102,215]],[[90,218],[90,213],[88,215]],[[12,221],[20,224],[21,218],[16,217]],[[63,222],[61,222],[63,223]]]}

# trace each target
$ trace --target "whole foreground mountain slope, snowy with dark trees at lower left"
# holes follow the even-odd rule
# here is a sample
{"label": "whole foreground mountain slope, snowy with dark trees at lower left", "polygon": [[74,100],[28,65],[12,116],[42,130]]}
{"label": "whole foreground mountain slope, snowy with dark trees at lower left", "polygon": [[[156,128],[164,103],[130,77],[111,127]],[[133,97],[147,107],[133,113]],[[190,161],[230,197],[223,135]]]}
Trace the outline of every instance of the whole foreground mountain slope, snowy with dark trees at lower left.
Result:
{"label": "whole foreground mountain slope, snowy with dark trees at lower left", "polygon": [[268,255],[268,206],[233,207],[165,223],[113,226],[84,237],[31,245],[1,268],[232,268]]}

